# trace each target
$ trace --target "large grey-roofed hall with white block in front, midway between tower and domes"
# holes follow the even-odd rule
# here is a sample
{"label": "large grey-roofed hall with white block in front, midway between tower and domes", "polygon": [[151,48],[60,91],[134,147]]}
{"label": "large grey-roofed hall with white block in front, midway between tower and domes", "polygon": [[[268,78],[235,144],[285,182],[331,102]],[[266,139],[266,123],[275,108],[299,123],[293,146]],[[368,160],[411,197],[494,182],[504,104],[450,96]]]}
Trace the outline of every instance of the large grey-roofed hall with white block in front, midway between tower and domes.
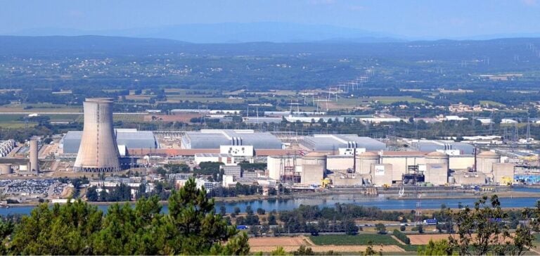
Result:
{"label": "large grey-roofed hall with white block in front, midway between tower and domes", "polygon": [[181,148],[219,148],[219,153],[252,156],[256,149],[281,149],[283,145],[269,132],[203,129],[200,132],[186,132],[182,136]]}

